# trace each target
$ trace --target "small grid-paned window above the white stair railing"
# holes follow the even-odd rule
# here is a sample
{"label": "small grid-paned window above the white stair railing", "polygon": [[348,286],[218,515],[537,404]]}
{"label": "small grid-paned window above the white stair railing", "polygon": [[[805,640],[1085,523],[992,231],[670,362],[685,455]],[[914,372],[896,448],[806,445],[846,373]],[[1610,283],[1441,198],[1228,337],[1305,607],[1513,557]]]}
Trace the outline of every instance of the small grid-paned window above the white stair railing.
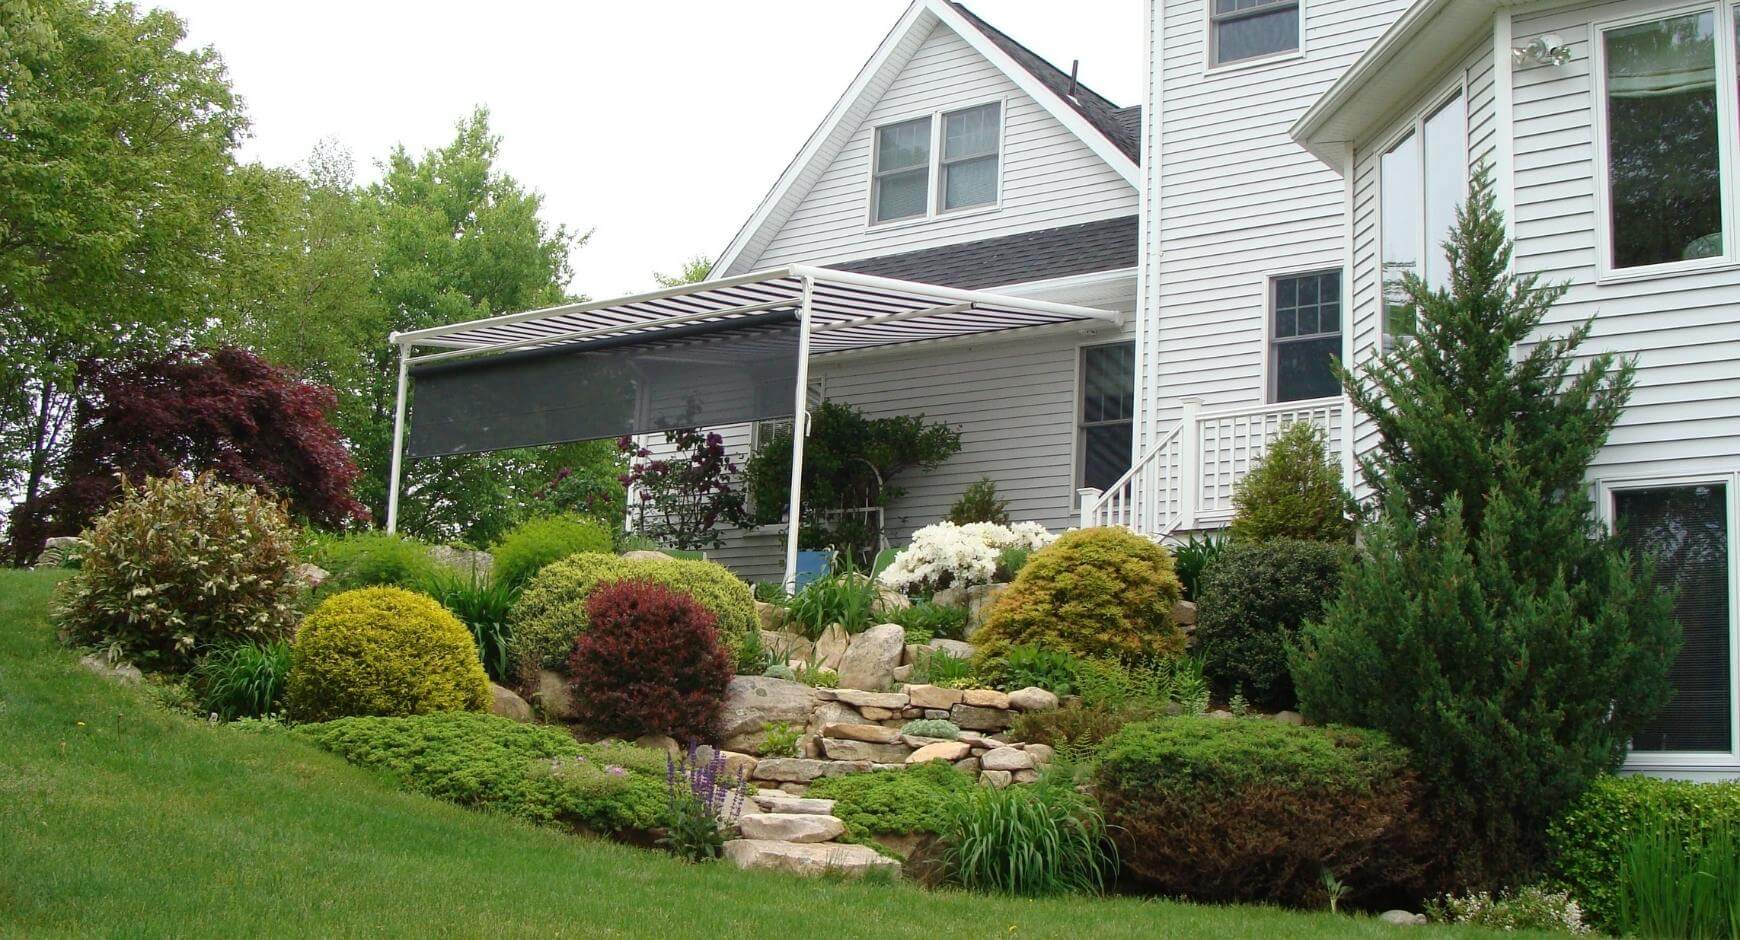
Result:
{"label": "small grid-paned window above the white stair railing", "polygon": [[1342,270],[1270,282],[1268,400],[1300,402],[1342,392]]}

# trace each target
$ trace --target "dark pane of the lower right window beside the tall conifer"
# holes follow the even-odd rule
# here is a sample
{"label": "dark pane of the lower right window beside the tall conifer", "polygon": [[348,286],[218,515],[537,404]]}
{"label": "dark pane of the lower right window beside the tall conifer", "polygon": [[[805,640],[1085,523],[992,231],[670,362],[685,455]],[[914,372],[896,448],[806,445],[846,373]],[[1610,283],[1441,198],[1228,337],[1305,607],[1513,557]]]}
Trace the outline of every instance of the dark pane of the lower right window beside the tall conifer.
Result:
{"label": "dark pane of the lower right window beside the tall conifer", "polygon": [[1669,675],[1674,698],[1632,742],[1636,750],[1733,750],[1733,620],[1728,595],[1728,487],[1627,489],[1613,494],[1618,540],[1655,559],[1672,590],[1684,646]]}

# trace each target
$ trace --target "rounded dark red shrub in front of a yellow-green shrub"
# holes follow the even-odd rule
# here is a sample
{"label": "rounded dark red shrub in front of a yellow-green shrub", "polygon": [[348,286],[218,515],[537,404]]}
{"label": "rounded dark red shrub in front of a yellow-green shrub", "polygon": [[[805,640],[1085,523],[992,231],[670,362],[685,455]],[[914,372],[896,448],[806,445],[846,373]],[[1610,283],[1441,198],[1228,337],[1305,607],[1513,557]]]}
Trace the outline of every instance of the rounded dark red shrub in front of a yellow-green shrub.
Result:
{"label": "rounded dark red shrub in front of a yellow-green shrub", "polygon": [[713,614],[687,594],[618,581],[586,599],[569,663],[579,719],[626,738],[712,740],[731,681]]}

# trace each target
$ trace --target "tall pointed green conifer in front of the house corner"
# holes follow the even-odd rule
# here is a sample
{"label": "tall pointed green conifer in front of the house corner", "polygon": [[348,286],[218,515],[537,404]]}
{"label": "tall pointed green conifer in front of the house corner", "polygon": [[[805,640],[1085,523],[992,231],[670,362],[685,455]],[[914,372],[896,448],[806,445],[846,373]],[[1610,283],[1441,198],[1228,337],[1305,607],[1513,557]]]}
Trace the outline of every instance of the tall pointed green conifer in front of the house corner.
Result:
{"label": "tall pointed green conifer in front of the house corner", "polygon": [[1479,888],[1531,869],[1547,823],[1618,766],[1670,695],[1679,628],[1585,480],[1632,364],[1583,357],[1589,324],[1542,336],[1563,287],[1507,270],[1484,171],[1449,256],[1451,292],[1404,277],[1416,338],[1343,374],[1378,430],[1382,512],[1289,660],[1307,715],[1413,752],[1442,877]]}

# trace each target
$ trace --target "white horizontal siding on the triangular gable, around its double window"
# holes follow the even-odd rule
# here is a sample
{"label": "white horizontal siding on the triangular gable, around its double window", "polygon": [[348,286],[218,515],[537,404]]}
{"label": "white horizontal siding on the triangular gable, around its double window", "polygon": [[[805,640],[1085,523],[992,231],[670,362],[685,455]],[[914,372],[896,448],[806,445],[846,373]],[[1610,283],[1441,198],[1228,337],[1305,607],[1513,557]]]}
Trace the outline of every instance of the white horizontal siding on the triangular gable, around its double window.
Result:
{"label": "white horizontal siding on the triangular gable, around its double window", "polygon": [[[999,101],[999,195],[936,218],[870,223],[875,127]],[[931,193],[933,205],[940,204]],[[1131,216],[1136,190],[948,26],[938,24],[851,132],[766,247],[733,272],[873,258]]]}

